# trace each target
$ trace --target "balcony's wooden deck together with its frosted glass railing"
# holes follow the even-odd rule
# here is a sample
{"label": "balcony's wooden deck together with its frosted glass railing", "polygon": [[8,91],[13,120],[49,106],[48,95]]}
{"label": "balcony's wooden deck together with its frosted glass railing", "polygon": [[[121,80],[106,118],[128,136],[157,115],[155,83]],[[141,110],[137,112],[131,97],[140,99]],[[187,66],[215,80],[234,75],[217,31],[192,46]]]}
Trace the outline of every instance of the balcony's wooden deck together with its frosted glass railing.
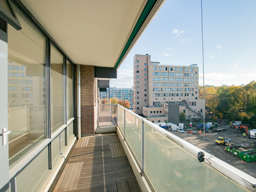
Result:
{"label": "balcony's wooden deck together with its frosted glass railing", "polygon": [[60,191],[131,191],[131,186],[136,191],[256,191],[255,178],[207,152],[200,163],[200,148],[128,109],[107,104],[103,111],[111,111],[105,128],[116,116],[117,135],[80,138],[56,191],[61,186]]}

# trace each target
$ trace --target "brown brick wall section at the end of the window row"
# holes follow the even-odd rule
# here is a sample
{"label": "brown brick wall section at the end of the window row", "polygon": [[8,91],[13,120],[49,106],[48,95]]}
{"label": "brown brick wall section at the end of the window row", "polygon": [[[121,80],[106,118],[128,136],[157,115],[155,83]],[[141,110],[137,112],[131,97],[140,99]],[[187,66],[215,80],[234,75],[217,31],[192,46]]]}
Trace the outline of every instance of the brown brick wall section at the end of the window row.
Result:
{"label": "brown brick wall section at the end of the window row", "polygon": [[[77,65],[75,67],[75,127],[77,134]],[[94,66],[81,65],[81,136],[94,134]]]}

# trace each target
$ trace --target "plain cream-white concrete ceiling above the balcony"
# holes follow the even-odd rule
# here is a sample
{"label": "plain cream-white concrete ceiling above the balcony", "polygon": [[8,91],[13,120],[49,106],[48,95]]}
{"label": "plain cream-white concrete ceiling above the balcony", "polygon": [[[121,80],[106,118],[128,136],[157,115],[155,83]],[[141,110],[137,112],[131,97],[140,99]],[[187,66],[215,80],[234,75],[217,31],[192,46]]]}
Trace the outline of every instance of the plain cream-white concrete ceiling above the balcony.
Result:
{"label": "plain cream-white concrete ceiling above the balcony", "polygon": [[147,0],[21,1],[74,63],[99,67],[115,67],[147,3]]}

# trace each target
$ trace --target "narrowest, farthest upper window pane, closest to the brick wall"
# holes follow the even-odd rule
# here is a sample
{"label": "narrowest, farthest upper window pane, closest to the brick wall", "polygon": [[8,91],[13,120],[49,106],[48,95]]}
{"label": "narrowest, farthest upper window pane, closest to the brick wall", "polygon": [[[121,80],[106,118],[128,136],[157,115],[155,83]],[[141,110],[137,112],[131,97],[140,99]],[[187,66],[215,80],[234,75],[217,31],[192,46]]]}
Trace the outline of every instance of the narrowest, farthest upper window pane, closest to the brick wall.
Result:
{"label": "narrowest, farthest upper window pane, closest to the brick wall", "polygon": [[67,120],[74,117],[73,70],[73,65],[67,61]]}

